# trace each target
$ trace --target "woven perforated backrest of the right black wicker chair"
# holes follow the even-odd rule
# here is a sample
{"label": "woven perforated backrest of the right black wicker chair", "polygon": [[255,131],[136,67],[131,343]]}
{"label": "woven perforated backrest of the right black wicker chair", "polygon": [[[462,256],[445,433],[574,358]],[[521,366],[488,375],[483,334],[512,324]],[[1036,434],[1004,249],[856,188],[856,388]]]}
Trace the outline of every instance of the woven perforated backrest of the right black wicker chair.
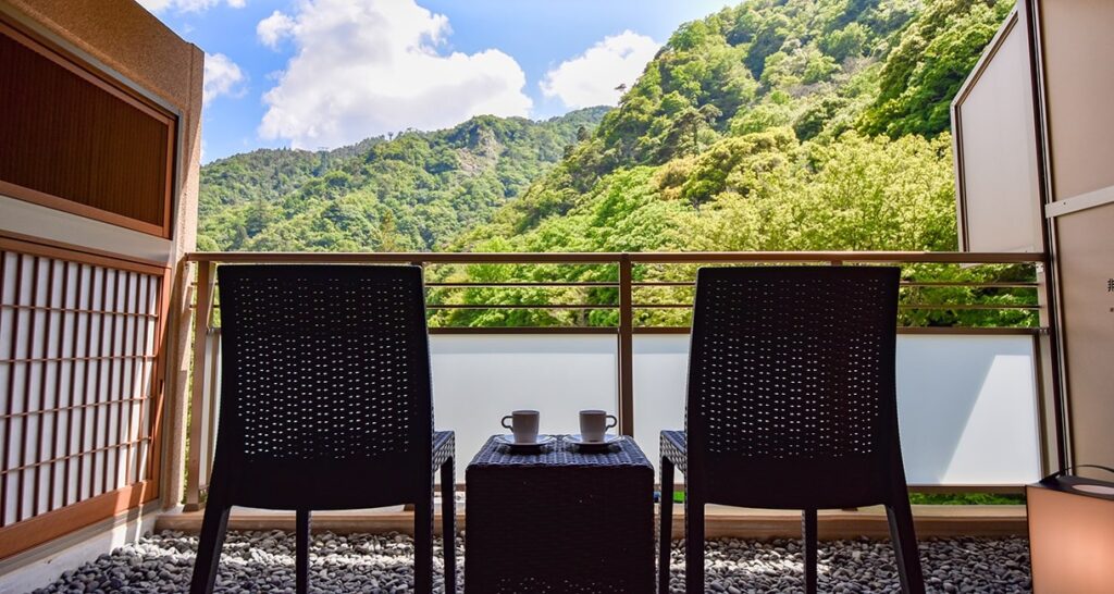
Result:
{"label": "woven perforated backrest of the right black wicker chair", "polygon": [[694,456],[709,474],[887,467],[897,447],[898,281],[898,269],[879,266],[702,269],[690,467]]}

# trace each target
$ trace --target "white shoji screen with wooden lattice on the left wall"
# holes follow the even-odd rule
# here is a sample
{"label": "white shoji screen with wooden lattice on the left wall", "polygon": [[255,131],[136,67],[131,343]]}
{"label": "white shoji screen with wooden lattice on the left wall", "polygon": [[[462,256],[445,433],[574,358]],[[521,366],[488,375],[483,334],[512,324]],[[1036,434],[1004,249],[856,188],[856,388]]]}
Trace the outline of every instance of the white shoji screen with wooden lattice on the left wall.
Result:
{"label": "white shoji screen with wooden lattice on the left wall", "polygon": [[0,238],[0,557],[157,495],[167,272]]}

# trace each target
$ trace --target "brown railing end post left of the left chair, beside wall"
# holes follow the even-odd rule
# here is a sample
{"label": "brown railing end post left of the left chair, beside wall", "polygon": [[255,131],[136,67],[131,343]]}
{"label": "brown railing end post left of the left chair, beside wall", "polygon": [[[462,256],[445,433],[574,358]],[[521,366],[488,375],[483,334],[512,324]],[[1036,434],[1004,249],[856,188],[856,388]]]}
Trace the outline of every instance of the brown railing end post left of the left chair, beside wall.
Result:
{"label": "brown railing end post left of the left chair, beside wall", "polygon": [[205,444],[202,428],[205,418],[205,356],[209,320],[213,310],[213,264],[207,260],[197,263],[197,304],[194,309],[194,364],[193,390],[189,401],[189,457],[186,459],[186,512],[202,507],[202,456]]}

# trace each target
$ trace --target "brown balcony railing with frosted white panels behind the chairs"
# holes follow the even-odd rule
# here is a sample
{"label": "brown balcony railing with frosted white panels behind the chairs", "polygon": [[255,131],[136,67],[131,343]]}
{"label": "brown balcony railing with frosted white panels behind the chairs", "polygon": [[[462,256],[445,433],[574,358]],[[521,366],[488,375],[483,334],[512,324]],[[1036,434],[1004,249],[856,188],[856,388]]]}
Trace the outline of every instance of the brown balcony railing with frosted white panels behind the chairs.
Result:
{"label": "brown balcony railing with frosted white panels behind the chairs", "polygon": [[546,432],[615,410],[652,459],[684,423],[687,323],[703,265],[902,267],[899,415],[919,490],[1008,490],[1049,466],[1055,413],[1042,377],[1042,256],[1014,253],[195,253],[186,508],[204,500],[219,396],[216,267],[408,263],[424,267],[434,418],[461,462],[510,409]]}

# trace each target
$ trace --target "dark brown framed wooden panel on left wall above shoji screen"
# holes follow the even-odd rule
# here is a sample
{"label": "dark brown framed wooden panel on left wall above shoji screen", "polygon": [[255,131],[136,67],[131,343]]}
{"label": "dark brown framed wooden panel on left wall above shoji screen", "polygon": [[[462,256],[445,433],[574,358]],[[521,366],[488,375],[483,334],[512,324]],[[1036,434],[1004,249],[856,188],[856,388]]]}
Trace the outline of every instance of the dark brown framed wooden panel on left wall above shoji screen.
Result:
{"label": "dark brown framed wooden panel on left wall above shoji screen", "polygon": [[176,117],[0,19],[0,193],[169,237]]}

